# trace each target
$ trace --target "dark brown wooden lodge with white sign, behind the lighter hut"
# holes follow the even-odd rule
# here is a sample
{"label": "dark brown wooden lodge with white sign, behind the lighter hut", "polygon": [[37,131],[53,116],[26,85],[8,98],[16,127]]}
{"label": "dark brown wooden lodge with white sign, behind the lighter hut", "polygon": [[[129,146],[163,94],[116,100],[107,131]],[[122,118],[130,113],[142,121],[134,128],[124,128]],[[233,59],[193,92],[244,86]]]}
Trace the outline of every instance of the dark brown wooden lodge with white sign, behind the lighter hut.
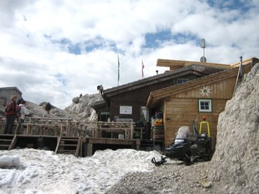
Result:
{"label": "dark brown wooden lodge with white sign, behind the lighter hut", "polygon": [[[160,59],[158,59],[158,63],[160,63]],[[155,147],[155,140],[162,145],[163,137],[156,135],[156,138],[153,138],[151,133],[151,118],[155,112],[159,111],[155,108],[146,108],[151,92],[218,73],[228,68],[229,65],[225,64],[206,66],[201,62],[190,62],[188,66],[179,69],[175,68],[143,80],[105,89],[102,94],[103,100],[94,103],[93,108],[97,112],[98,121],[134,122],[136,124],[134,130],[139,130],[139,137],[143,144],[153,144]]]}

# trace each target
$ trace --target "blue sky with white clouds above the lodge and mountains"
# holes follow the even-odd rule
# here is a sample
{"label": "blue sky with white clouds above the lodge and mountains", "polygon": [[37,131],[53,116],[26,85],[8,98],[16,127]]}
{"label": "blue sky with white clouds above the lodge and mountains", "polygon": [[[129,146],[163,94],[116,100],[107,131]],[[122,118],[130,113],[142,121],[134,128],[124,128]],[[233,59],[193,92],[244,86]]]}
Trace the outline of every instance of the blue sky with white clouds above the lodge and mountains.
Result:
{"label": "blue sky with white clouds above the lodge and mountains", "polygon": [[169,70],[157,59],[259,57],[259,0],[1,0],[0,12],[0,87],[62,109],[141,80],[142,61],[146,78]]}

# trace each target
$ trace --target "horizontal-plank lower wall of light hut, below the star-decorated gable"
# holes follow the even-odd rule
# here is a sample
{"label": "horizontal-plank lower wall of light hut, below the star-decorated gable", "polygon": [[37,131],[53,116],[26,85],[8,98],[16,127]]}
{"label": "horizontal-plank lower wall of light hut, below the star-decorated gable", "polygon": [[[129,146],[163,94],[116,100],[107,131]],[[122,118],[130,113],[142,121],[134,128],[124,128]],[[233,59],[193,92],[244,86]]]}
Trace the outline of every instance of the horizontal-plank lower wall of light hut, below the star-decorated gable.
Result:
{"label": "horizontal-plank lower wall of light hut, below the star-decorated gable", "polygon": [[[165,101],[165,145],[172,143],[176,137],[176,132],[181,126],[189,126],[193,133],[193,121],[197,121],[197,128],[200,128],[200,122],[203,121],[203,115],[207,116],[209,122],[211,137],[216,142],[216,132],[218,124],[218,115],[225,109],[225,99],[213,99],[212,112],[199,112],[197,98],[170,98]],[[207,127],[202,125],[202,133],[207,133]]]}

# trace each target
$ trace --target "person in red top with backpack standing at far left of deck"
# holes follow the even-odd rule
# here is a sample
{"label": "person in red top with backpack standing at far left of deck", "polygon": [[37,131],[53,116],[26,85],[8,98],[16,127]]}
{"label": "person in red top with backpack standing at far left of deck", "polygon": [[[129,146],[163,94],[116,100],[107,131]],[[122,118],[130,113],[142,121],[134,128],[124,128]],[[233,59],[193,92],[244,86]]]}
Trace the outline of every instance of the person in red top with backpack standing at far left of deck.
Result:
{"label": "person in red top with backpack standing at far left of deck", "polygon": [[16,100],[17,96],[11,96],[10,102],[6,105],[6,126],[4,127],[3,134],[13,134],[13,123],[17,113]]}

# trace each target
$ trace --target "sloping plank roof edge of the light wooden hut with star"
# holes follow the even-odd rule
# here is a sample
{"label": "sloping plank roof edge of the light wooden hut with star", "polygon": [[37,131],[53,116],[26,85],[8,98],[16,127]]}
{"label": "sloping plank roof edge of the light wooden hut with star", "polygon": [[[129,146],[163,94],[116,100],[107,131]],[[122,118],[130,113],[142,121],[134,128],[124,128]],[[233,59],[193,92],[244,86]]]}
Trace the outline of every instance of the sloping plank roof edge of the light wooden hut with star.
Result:
{"label": "sloping plank roof edge of the light wooden hut with star", "polygon": [[[244,68],[246,69],[251,68],[251,66],[249,65],[251,65],[251,63],[250,64],[246,63],[246,65],[244,65]],[[230,77],[237,77],[238,71],[239,71],[239,67],[233,66],[230,69],[223,70],[221,72],[207,75],[204,77],[200,77],[195,80],[185,82],[183,84],[176,84],[171,87],[152,91],[150,96],[148,97],[148,102],[146,104],[146,107],[154,107],[155,105],[160,103],[163,99],[169,96],[172,96],[174,94],[179,94],[181,92],[188,91],[190,89],[198,88],[203,84],[212,84],[215,82],[221,82],[223,80],[229,79]]]}

